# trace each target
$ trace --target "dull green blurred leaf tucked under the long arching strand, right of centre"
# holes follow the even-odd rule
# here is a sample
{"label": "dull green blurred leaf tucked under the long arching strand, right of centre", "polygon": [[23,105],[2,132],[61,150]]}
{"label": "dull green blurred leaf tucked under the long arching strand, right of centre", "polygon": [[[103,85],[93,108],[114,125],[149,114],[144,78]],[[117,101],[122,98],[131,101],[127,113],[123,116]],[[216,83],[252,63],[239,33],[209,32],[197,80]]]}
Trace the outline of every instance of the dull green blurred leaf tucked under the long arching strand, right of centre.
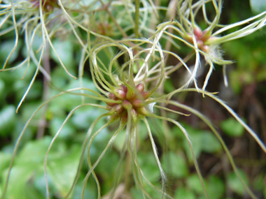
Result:
{"label": "dull green blurred leaf tucked under the long arching strand, right of centre", "polygon": [[216,136],[209,131],[202,131],[202,151],[207,153],[218,152],[222,149]]}

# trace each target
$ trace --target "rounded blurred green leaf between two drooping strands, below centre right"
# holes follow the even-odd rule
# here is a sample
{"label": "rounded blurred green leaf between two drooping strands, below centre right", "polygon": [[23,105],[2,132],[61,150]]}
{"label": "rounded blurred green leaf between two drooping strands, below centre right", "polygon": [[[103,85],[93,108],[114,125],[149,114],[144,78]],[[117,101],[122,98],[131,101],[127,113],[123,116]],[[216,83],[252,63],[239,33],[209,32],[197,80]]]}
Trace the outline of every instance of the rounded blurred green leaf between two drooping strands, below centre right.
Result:
{"label": "rounded blurred green leaf between two drooping strands, below centre right", "polygon": [[162,158],[162,168],[167,174],[174,177],[185,177],[188,175],[188,165],[185,159],[174,152],[165,154]]}

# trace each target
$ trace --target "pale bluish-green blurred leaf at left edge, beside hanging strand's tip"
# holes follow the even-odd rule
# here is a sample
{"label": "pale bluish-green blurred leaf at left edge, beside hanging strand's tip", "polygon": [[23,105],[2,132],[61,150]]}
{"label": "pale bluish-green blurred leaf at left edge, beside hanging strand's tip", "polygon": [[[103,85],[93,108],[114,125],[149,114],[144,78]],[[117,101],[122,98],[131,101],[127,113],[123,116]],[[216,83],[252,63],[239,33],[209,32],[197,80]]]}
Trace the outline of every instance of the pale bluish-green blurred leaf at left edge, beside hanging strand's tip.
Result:
{"label": "pale bluish-green blurred leaf at left edge, beside hanging strand's tip", "polygon": [[15,106],[8,105],[0,112],[0,135],[8,135],[15,124]]}

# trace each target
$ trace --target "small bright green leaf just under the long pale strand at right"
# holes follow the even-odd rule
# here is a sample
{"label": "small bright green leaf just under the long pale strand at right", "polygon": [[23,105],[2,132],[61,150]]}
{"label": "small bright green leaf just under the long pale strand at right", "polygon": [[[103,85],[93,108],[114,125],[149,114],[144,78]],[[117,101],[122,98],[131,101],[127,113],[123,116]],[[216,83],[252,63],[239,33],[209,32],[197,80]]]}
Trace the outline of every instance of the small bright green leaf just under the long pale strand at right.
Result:
{"label": "small bright green leaf just under the long pale strand at right", "polygon": [[230,136],[240,137],[243,135],[245,128],[234,118],[230,117],[221,122],[221,128]]}

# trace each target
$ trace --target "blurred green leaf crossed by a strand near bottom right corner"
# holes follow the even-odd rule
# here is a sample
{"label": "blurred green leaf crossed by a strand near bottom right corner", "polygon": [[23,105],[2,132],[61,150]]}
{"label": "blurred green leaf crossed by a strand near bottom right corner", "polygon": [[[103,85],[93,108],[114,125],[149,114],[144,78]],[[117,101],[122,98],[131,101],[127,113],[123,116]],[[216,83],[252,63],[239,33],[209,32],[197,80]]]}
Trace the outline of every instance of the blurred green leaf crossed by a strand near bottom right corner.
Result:
{"label": "blurred green leaf crossed by a strand near bottom right corner", "polygon": [[[243,170],[239,170],[239,175],[244,180],[244,183],[248,184],[248,177],[246,176],[246,173]],[[227,182],[228,186],[232,191],[235,191],[239,195],[243,196],[245,193],[244,186],[242,185],[240,179],[237,177],[235,172],[230,172],[227,176]]]}

